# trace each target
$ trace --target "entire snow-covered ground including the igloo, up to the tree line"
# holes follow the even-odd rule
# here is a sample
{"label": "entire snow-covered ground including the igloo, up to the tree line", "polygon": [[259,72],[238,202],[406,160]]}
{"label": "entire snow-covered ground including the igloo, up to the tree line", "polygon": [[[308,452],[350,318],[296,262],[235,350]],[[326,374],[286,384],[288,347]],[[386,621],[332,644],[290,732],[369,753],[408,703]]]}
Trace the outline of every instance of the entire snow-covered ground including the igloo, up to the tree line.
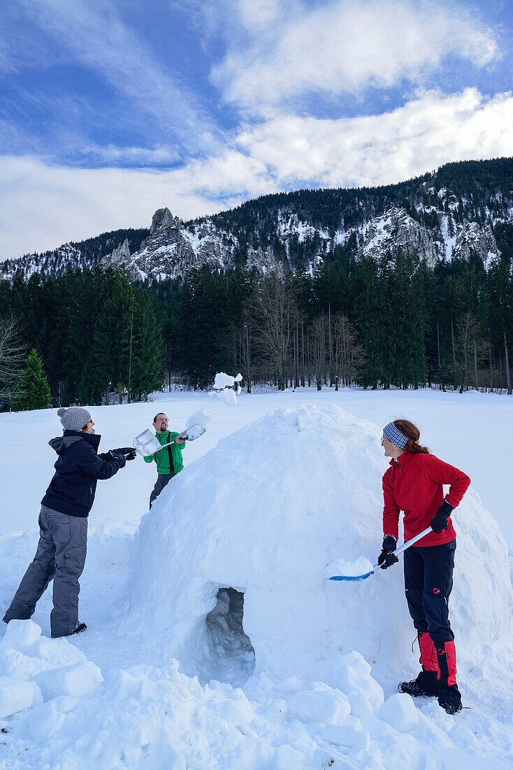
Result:
{"label": "entire snow-covered ground including the igloo, up to the tree line", "polygon": [[[132,443],[157,410],[172,430],[208,410],[207,433],[147,516],[155,465],[138,457],[98,484],[85,634],[47,638],[48,592],[34,623],[0,624],[0,768],[513,766],[513,593],[499,531],[513,547],[513,401],[361,390],[242,394],[236,406],[154,399],[92,407],[102,449]],[[451,614],[469,707],[455,717],[396,690],[418,668],[400,567],[359,584],[324,577],[338,559],[375,561],[379,437],[395,417],[472,480],[455,515]],[[59,428],[55,410],[0,414],[2,614],[35,550]]]}

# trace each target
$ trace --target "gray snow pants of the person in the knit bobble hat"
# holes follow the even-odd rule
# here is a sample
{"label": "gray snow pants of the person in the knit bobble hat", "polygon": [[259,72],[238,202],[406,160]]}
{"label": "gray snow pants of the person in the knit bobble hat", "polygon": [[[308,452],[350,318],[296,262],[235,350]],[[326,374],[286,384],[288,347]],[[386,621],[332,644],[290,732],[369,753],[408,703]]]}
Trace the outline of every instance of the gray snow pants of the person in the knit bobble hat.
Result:
{"label": "gray snow pants of the person in the knit bobble hat", "polygon": [[39,514],[39,542],[34,561],[22,577],[4,621],[32,618],[35,605],[53,579],[52,637],[70,634],[78,625],[78,578],[87,551],[87,518],[68,516],[45,505]]}

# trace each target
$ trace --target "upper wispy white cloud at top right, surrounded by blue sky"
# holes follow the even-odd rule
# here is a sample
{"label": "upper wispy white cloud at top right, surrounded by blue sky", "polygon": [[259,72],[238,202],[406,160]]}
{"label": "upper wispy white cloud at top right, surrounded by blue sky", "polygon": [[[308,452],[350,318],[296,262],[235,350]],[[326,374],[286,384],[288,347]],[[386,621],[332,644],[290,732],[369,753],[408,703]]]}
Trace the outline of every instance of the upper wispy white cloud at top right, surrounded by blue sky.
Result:
{"label": "upper wispy white cloud at top right, surrounded by blue sky", "polygon": [[[309,92],[329,96],[365,86],[423,82],[447,55],[485,65],[498,55],[495,38],[461,5],[438,0],[331,0],[315,8],[272,2],[265,13],[236,3],[250,42],[238,36],[212,70],[224,99],[265,112]],[[263,23],[266,15],[271,22]]]}

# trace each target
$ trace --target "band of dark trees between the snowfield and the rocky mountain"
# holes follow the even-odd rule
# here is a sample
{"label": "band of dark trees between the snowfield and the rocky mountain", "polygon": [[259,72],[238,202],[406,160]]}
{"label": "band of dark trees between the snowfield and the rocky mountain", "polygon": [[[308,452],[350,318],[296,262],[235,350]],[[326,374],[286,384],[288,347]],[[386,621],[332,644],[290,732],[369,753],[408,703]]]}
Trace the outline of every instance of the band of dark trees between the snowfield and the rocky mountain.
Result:
{"label": "band of dark trees between the snowfield and the rocky mountain", "polygon": [[98,266],[16,276],[0,283],[2,329],[14,324],[17,357],[8,364],[0,334],[0,400],[33,408],[19,406],[32,350],[54,405],[141,400],[177,381],[208,387],[221,370],[240,371],[248,390],[511,393],[511,229],[498,230],[498,241],[502,256],[488,272],[478,256],[429,269],[401,249],[358,260],[340,249],[313,272],[277,263],[264,276],[202,266],[183,280],[145,283]]}

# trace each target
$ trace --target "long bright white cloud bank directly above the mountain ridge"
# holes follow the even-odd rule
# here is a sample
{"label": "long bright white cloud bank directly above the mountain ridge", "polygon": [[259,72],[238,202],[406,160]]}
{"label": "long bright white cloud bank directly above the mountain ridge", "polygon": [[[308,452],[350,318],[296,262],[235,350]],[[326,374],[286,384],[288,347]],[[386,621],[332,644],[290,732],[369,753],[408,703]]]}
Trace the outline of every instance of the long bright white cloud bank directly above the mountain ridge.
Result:
{"label": "long bright white cloud bank directly above the mountain ridge", "polygon": [[513,155],[513,95],[419,95],[382,115],[281,116],[179,169],[69,169],[0,158],[0,258],[118,227],[148,226],[168,206],[182,219],[298,186],[373,186],[442,163]]}

